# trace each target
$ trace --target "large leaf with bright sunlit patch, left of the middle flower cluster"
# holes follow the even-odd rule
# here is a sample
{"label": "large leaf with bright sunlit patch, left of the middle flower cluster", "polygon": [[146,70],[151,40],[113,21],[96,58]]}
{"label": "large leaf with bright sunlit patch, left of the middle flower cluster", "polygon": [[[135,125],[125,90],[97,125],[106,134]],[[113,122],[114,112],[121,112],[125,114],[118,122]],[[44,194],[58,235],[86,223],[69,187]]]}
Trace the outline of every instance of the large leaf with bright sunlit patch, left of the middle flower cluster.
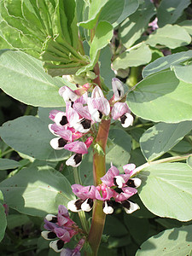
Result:
{"label": "large leaf with bright sunlit patch, left of the middle flower cluster", "polygon": [[44,217],[74,199],[70,183],[50,166],[22,169],[0,183],[4,201],[18,212]]}

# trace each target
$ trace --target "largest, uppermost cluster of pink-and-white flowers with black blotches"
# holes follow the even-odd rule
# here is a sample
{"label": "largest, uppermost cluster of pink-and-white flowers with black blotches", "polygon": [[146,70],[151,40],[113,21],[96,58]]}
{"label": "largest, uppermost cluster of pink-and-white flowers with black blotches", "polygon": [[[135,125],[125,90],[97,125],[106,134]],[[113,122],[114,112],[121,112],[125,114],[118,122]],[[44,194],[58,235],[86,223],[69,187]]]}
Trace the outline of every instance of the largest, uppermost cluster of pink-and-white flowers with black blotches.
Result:
{"label": "largest, uppermost cluster of pink-and-white flowers with black blotches", "polygon": [[[94,125],[103,118],[119,120],[123,127],[132,125],[130,109],[126,102],[119,102],[124,96],[123,85],[119,79],[112,79],[112,86],[113,97],[109,101],[98,85],[93,90],[90,84],[84,84],[77,90],[71,90],[67,86],[60,88],[59,93],[66,102],[66,112],[52,110],[49,113],[49,119],[54,121],[54,124],[49,125],[49,131],[56,136],[50,141],[50,145],[52,148],[65,148],[74,153],[67,160],[67,166],[80,165],[82,156],[88,153],[88,148],[93,143]],[[91,96],[89,90],[92,90]]]}

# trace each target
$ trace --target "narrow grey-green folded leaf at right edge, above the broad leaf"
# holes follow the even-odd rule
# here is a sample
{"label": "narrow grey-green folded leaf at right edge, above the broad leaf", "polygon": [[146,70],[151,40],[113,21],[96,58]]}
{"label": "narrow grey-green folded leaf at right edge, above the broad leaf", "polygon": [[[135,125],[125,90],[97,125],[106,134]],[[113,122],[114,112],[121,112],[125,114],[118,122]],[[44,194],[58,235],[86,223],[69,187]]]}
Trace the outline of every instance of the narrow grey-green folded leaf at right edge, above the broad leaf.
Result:
{"label": "narrow grey-green folded leaf at right edge, above the broad leaf", "polygon": [[153,73],[160,72],[166,68],[171,66],[175,66],[177,63],[181,63],[183,61],[187,61],[192,58],[192,50],[179,52],[173,55],[167,55],[165,57],[161,57],[154,62],[148,64],[148,66],[143,69],[143,78],[148,77]]}

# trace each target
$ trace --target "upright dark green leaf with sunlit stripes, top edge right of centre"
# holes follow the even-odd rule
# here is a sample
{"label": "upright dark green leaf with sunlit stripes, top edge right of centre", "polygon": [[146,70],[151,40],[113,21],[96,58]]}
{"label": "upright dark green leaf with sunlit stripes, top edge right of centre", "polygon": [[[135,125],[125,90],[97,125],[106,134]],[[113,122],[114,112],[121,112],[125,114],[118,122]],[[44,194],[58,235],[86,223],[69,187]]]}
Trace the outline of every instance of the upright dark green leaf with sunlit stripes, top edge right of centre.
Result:
{"label": "upright dark green leaf with sunlit stripes, top edge right of centre", "polygon": [[119,36],[126,48],[130,48],[142,36],[154,14],[154,4],[146,0],[121,24]]}

